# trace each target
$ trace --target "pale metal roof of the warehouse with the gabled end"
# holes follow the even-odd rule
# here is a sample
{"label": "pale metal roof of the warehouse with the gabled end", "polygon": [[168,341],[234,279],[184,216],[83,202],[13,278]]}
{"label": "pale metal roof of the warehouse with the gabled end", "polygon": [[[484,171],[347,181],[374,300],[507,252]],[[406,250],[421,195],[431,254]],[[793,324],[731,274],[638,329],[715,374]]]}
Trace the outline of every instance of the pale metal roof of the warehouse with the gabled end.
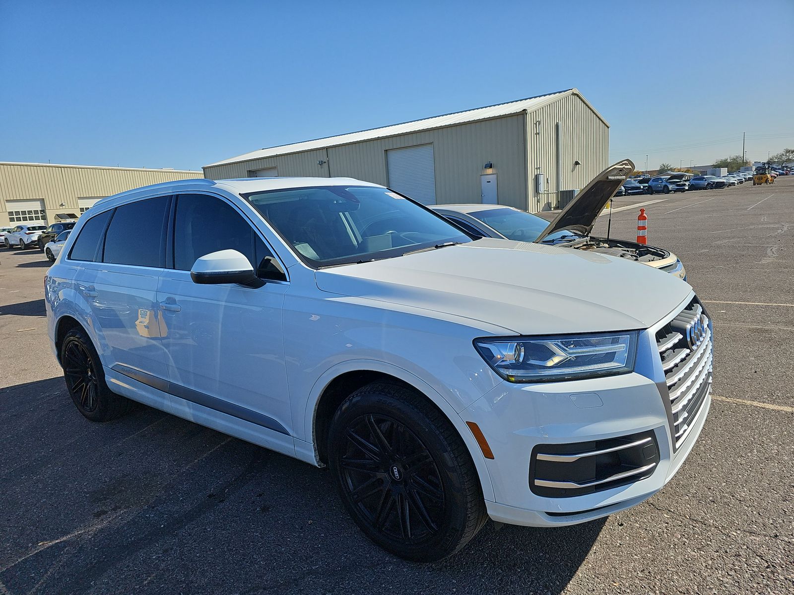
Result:
{"label": "pale metal roof of the warehouse with the gabled end", "polygon": [[467,109],[462,112],[446,113],[442,116],[426,117],[422,120],[414,120],[410,122],[403,122],[402,124],[395,124],[391,126],[384,126],[382,128],[361,130],[360,132],[349,132],[339,136],[326,136],[314,140],[304,140],[301,143],[283,144],[278,147],[269,147],[245,153],[244,155],[237,155],[224,159],[216,163],[210,163],[204,167],[213,167],[216,165],[225,165],[226,163],[237,163],[239,161],[249,161],[251,159],[261,159],[263,157],[274,157],[276,155],[286,155],[287,153],[299,153],[304,151],[312,151],[314,149],[335,147],[341,144],[358,143],[362,140],[373,140],[384,138],[387,136],[397,136],[400,134],[408,134],[410,132],[419,132],[422,130],[430,130],[443,128],[445,126],[453,126],[458,124],[467,124],[468,122],[475,122],[480,120],[489,120],[495,117],[511,116],[516,113],[529,112],[539,107],[545,106],[549,103],[556,102],[557,100],[570,95],[578,95],[590,109],[593,110],[596,116],[599,117],[605,125],[608,126],[607,121],[593,109],[580,94],[579,90],[567,89],[557,91],[556,93],[549,93],[545,95],[538,95],[526,99],[518,99],[514,102],[499,103],[495,106],[480,107],[477,109]]}

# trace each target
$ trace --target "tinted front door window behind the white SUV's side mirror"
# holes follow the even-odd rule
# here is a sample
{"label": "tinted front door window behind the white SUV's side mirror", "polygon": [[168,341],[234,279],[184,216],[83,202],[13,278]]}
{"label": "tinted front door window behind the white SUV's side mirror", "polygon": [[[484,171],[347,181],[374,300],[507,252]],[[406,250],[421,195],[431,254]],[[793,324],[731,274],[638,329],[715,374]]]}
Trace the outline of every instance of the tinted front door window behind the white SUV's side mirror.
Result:
{"label": "tinted front door window behind the white SUV's side mirror", "polygon": [[284,278],[252,225],[232,205],[208,194],[183,194],[176,202],[174,268],[190,271],[195,261],[219,250],[245,255],[261,278]]}

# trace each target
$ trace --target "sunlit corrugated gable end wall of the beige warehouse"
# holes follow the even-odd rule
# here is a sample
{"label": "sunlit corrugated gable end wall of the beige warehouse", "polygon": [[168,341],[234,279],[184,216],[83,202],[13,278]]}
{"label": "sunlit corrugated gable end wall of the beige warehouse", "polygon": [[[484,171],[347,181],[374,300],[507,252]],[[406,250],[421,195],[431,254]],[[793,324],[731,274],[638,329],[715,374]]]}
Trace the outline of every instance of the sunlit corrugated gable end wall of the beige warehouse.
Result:
{"label": "sunlit corrugated gable end wall of the beige warehouse", "polygon": [[[530,211],[561,205],[561,190],[581,190],[609,165],[609,127],[576,94],[528,113],[526,128]],[[538,173],[545,178],[542,194],[535,189]]]}

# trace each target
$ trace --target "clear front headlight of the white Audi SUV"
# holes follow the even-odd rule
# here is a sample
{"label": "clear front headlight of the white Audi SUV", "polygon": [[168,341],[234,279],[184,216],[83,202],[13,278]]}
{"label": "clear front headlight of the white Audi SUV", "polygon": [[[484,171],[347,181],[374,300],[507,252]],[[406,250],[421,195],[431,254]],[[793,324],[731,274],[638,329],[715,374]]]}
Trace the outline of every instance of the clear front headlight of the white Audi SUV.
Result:
{"label": "clear front headlight of the white Audi SUV", "polygon": [[510,382],[551,382],[634,370],[637,331],[592,335],[485,337],[474,347]]}

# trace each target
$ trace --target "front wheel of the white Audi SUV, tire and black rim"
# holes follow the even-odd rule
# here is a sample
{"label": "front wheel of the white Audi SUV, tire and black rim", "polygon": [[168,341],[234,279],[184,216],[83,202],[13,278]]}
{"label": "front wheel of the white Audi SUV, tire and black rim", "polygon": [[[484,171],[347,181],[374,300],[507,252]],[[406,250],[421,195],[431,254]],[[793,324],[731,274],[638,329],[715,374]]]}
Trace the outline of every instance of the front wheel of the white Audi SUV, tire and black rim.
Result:
{"label": "front wheel of the white Audi SUV, tire and black rim", "polygon": [[331,421],[329,466],[345,509],[369,539],[407,560],[454,554],[487,515],[471,456],[418,394],[373,382]]}

